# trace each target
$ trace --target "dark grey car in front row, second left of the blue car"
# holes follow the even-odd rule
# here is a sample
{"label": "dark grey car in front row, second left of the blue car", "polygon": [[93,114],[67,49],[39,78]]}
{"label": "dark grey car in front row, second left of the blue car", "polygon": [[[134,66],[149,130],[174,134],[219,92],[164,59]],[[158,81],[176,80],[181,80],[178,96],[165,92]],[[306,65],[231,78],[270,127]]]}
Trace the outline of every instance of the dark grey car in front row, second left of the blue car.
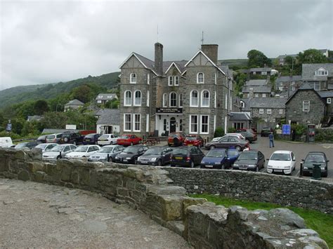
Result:
{"label": "dark grey car in front row, second left of the blue car", "polygon": [[170,147],[152,147],[138,157],[138,164],[164,166],[170,162],[172,149]]}

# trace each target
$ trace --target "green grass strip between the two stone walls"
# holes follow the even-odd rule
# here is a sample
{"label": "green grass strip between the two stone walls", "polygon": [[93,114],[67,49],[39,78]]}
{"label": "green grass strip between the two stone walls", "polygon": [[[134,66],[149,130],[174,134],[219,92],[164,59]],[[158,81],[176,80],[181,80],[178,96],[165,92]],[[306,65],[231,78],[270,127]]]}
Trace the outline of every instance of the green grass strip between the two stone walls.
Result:
{"label": "green grass strip between the two stone walls", "polygon": [[243,201],[234,198],[228,198],[224,196],[214,196],[211,194],[192,194],[192,197],[197,198],[207,198],[208,201],[216,203],[216,205],[223,205],[225,207],[230,206],[242,206],[248,210],[264,209],[270,210],[273,208],[289,208],[301,216],[308,228],[311,228],[318,232],[320,238],[326,241],[329,248],[333,248],[333,215],[328,215],[325,213],[320,213],[316,210],[310,210],[305,208],[294,208],[279,206],[274,203],[264,203],[255,201]]}

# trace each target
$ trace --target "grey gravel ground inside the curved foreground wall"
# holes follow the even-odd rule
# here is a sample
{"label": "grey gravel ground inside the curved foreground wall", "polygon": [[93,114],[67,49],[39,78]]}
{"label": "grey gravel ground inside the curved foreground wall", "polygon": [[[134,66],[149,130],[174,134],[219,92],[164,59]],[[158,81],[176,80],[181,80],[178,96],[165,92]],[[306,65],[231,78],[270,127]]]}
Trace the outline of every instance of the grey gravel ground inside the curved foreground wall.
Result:
{"label": "grey gravel ground inside the curved foreground wall", "polygon": [[1,248],[190,248],[147,215],[99,194],[0,178]]}

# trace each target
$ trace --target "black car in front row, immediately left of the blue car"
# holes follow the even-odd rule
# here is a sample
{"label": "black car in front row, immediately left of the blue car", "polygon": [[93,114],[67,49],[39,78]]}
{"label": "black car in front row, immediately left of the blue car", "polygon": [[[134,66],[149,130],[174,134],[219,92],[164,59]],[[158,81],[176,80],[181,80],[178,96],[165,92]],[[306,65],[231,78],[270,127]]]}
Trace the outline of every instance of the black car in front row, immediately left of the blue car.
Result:
{"label": "black car in front row, immediately left of the blue car", "polygon": [[181,146],[174,149],[171,153],[170,164],[171,167],[188,166],[190,168],[194,168],[194,166],[201,163],[203,157],[204,153],[201,149],[197,147]]}

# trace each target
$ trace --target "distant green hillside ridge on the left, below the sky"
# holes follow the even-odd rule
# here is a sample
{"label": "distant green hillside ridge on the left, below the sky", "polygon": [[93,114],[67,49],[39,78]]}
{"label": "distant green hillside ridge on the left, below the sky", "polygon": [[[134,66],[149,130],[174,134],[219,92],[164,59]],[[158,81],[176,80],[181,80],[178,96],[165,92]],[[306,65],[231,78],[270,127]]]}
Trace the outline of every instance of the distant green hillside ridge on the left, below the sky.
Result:
{"label": "distant green hillside ridge on the left, below the sky", "polygon": [[48,83],[44,85],[17,86],[0,91],[0,109],[9,105],[17,104],[27,100],[51,99],[61,93],[69,93],[70,90],[86,83],[96,83],[107,89],[117,86],[119,72],[103,74],[101,76],[88,76],[73,81]]}

